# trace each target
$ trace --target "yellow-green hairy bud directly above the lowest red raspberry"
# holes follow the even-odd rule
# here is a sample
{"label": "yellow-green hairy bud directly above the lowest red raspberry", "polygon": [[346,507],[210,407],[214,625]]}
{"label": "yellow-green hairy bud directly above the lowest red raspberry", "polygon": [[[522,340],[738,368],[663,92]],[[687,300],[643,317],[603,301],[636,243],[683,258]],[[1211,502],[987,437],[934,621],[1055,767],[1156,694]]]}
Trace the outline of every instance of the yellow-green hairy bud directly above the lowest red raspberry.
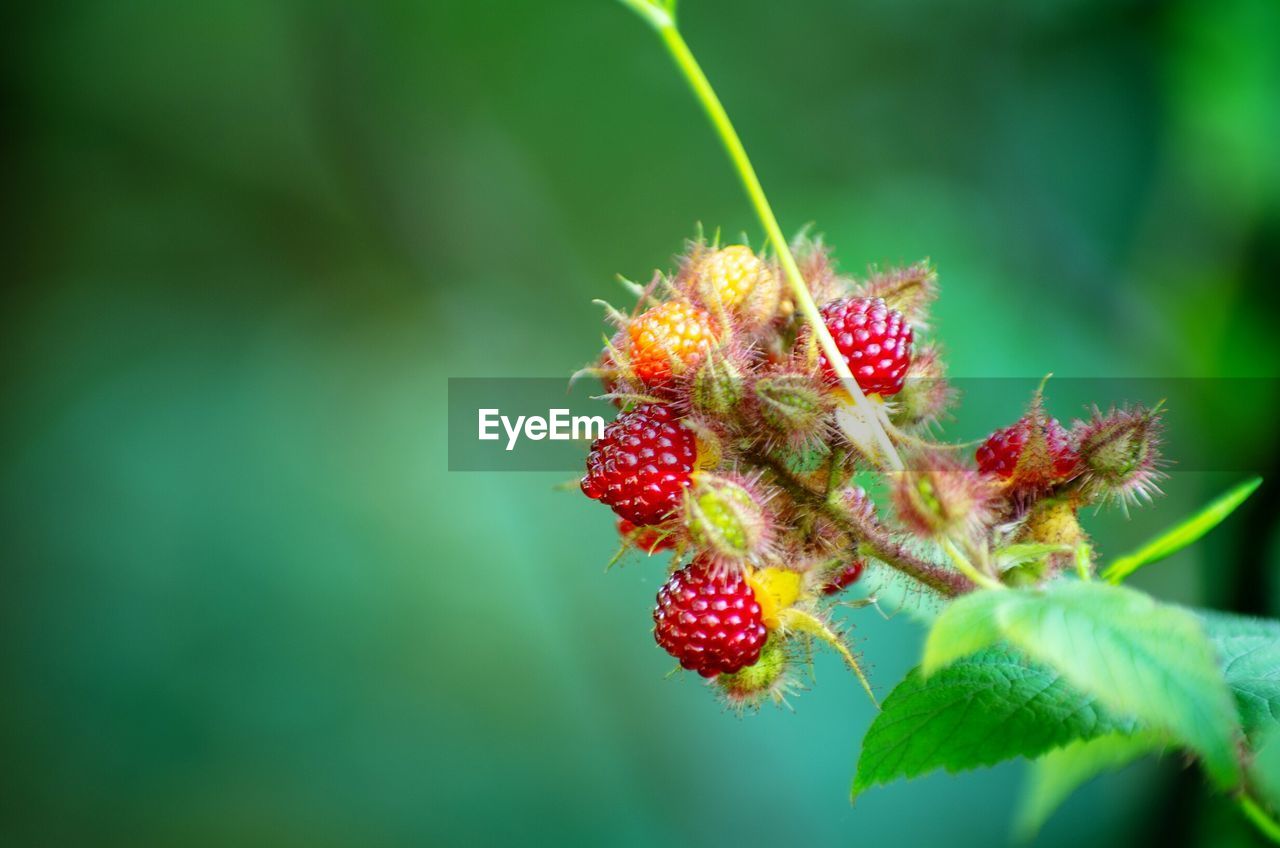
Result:
{"label": "yellow-green hairy bud directly above the lowest red raspberry", "polygon": [[716,562],[756,561],[771,541],[760,498],[724,478],[699,475],[685,494],[685,519],[690,538]]}

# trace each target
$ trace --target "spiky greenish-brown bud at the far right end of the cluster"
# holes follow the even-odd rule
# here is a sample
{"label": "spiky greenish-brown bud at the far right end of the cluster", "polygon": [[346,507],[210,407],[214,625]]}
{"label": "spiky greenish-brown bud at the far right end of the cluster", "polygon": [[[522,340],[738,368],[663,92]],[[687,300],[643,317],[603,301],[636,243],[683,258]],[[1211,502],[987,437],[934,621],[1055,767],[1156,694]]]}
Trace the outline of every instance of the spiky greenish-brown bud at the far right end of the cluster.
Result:
{"label": "spiky greenish-brown bud at the far right end of the cluster", "polygon": [[1128,509],[1160,493],[1165,474],[1160,470],[1158,407],[1112,409],[1106,415],[1094,407],[1089,421],[1076,421],[1074,434],[1087,497]]}

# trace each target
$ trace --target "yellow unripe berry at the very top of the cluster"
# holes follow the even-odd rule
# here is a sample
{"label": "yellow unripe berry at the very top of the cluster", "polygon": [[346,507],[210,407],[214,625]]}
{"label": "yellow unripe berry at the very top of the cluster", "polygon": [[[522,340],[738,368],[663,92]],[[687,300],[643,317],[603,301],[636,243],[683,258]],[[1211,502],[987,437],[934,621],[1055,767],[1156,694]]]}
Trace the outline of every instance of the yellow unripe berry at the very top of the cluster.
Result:
{"label": "yellow unripe berry at the very top of the cluster", "polygon": [[777,314],[782,281],[750,247],[730,245],[694,260],[690,288],[712,313],[724,310],[755,329]]}

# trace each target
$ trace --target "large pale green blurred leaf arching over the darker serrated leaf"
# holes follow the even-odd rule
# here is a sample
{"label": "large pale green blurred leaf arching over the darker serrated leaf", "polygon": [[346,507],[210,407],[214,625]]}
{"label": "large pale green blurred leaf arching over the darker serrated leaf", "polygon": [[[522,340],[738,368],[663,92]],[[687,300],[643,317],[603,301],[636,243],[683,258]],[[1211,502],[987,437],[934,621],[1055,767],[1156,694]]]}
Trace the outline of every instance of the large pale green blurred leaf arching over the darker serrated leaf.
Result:
{"label": "large pale green blurred leaf arching over the darker serrated leaf", "polygon": [[975,592],[938,616],[923,671],[997,639],[1057,669],[1116,715],[1187,746],[1219,785],[1239,781],[1235,705],[1193,614],[1103,583]]}

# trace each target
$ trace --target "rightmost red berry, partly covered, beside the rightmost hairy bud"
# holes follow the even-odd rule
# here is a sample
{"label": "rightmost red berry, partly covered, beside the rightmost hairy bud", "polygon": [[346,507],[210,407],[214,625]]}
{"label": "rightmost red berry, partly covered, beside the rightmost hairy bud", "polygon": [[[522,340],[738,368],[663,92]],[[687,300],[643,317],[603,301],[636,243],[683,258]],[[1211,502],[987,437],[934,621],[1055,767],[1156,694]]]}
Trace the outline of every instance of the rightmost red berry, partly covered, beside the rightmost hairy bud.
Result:
{"label": "rightmost red berry, partly covered, beside the rightmost hairy bud", "polygon": [[1079,455],[1070,434],[1038,404],[1011,427],[987,437],[974,457],[978,470],[1018,492],[1052,487],[1075,474]]}

